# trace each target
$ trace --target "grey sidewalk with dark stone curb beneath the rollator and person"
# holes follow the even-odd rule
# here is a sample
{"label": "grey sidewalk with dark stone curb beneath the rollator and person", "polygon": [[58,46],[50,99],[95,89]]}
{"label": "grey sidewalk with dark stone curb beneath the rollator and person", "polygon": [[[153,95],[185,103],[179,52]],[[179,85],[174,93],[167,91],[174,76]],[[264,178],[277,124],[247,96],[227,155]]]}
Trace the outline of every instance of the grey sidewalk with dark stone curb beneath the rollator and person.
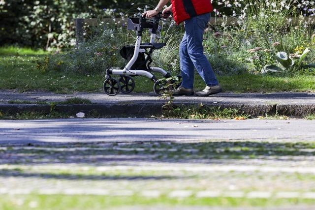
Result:
{"label": "grey sidewalk with dark stone curb beneath the rollator and person", "polygon": [[[161,115],[161,107],[165,100],[154,93],[130,93],[108,96],[105,93],[57,94],[47,91],[17,92],[15,90],[0,90],[0,111],[15,113],[21,111],[46,111],[49,105],[35,104],[38,101],[58,102],[72,97],[89,99],[88,105],[57,105],[56,111],[77,113],[92,110],[104,116],[115,117],[148,117]],[[34,104],[8,104],[10,100],[32,101]],[[179,96],[175,97],[176,105],[220,106],[236,108],[252,116],[286,115],[290,117],[305,117],[315,114],[315,93],[276,92],[262,93],[220,93],[209,97]]]}

